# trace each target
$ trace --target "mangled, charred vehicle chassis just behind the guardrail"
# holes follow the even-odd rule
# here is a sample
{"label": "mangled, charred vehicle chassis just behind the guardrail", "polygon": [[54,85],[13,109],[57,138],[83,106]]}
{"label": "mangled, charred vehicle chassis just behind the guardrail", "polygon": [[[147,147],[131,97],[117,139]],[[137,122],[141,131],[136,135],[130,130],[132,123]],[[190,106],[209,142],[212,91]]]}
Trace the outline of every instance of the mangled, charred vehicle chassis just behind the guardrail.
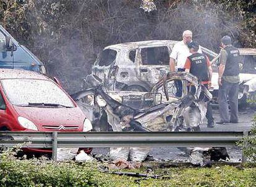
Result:
{"label": "mangled, charred vehicle chassis just behind the guardrail", "polygon": [[[87,81],[92,89],[77,92],[72,98],[91,117],[95,130],[109,130],[108,124],[114,131],[199,130],[205,103],[211,100],[210,92],[197,78],[185,72],[165,74],[150,92],[109,92],[94,75]],[[175,96],[176,81],[183,85],[181,98]]]}

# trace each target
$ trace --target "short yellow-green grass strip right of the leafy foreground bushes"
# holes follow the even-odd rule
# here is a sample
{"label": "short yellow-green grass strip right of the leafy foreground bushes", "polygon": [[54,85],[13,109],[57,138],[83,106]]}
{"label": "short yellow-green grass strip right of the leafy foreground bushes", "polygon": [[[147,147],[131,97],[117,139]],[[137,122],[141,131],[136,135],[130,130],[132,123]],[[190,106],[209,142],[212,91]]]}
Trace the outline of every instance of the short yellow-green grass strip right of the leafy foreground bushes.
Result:
{"label": "short yellow-green grass strip right of the leafy foreground bushes", "polygon": [[[124,170],[123,170],[124,171]],[[146,169],[126,170],[126,172],[145,173]],[[256,169],[233,166],[211,168],[174,168],[157,169],[155,174],[164,174],[170,179],[147,179],[105,174],[113,186],[256,186]]]}

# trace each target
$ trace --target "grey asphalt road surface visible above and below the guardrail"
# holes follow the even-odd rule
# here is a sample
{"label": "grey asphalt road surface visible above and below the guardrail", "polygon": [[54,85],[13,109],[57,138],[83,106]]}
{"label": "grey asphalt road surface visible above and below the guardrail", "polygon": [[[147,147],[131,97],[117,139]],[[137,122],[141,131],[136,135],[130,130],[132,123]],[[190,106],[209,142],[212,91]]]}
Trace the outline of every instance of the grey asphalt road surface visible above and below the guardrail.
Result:
{"label": "grey asphalt road surface visible above and below the guardrail", "polygon": [[[239,111],[239,123],[237,124],[216,124],[214,128],[208,128],[207,124],[201,124],[200,129],[201,131],[246,131],[252,127],[252,119],[255,115],[255,112],[256,111],[254,109]],[[215,121],[220,120],[218,109],[213,109],[213,116],[215,117]],[[108,151],[108,148],[93,148],[92,154],[102,154],[104,156],[108,154]],[[227,151],[231,162],[241,161],[242,153],[239,148],[227,148]],[[189,156],[187,156],[186,153],[177,148],[152,148],[150,151],[150,156],[152,156],[157,162],[189,161]]]}

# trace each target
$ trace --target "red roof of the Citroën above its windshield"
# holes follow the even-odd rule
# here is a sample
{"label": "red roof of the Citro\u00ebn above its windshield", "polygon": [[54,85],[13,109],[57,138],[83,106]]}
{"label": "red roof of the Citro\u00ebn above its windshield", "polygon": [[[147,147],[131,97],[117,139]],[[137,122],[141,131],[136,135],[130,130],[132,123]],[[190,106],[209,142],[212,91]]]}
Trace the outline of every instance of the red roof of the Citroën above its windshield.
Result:
{"label": "red roof of the Citro\u00ebn above its windshield", "polygon": [[0,69],[0,79],[42,79],[49,80],[46,76],[34,71],[19,69]]}

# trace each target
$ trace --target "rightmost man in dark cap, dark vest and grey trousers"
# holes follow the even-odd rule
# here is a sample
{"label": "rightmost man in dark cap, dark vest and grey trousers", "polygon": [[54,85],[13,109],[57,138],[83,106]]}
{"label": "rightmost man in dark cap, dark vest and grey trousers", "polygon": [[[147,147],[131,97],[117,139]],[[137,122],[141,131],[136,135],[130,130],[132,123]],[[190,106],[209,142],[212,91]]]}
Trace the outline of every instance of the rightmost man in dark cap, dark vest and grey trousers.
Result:
{"label": "rightmost man in dark cap, dark vest and grey trousers", "polygon": [[[225,124],[228,122],[238,122],[238,88],[239,88],[239,50],[232,46],[229,36],[221,38],[220,66],[219,66],[219,110],[220,122],[217,124]],[[231,115],[229,117],[228,100]]]}

